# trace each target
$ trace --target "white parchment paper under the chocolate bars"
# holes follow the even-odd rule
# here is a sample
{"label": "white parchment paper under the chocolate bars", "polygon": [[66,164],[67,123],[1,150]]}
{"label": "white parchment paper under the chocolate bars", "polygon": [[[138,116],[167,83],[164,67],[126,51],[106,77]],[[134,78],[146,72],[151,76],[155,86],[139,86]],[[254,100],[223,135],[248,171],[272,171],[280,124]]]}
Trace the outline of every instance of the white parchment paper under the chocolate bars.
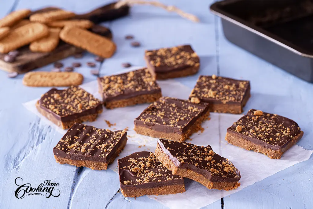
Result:
{"label": "white parchment paper under the chocolate bars", "polygon": [[[163,96],[187,99],[191,92],[189,87],[174,80],[158,81],[158,83],[162,88]],[[100,98],[97,81],[91,81],[81,85],[81,87],[92,93],[95,97]],[[45,121],[47,125],[50,125],[58,132],[65,134],[66,130],[57,127],[37,111],[35,107],[37,100],[38,99],[23,103],[23,105],[29,111],[38,115],[38,117]],[[109,128],[105,122],[105,120],[108,120],[112,124],[116,123],[116,125],[109,128],[111,130],[123,130],[124,128],[128,129],[127,144],[118,158],[123,158],[138,151],[154,152],[156,148],[156,138],[136,134],[133,130],[134,119],[138,117],[146,107],[148,107],[148,104],[116,108],[113,110],[104,109],[103,113],[95,122],[86,122],[86,124],[97,128]],[[230,194],[240,191],[257,181],[263,180],[266,177],[279,172],[280,170],[284,170],[285,168],[310,158],[313,151],[303,149],[298,145],[289,149],[281,159],[269,159],[263,154],[247,151],[228,144],[224,140],[226,129],[241,116],[242,115],[211,113],[211,119],[202,124],[202,127],[204,128],[203,133],[194,133],[191,139],[187,140],[187,142],[197,144],[199,146],[211,145],[212,149],[216,153],[230,159],[230,161],[238,168],[242,176],[240,180],[241,186],[238,189],[232,191],[219,191],[214,189],[208,190],[205,186],[198,182],[185,179],[186,192],[175,195],[159,195],[149,197],[171,209],[198,209],[209,205],[224,196],[229,196]],[[115,160],[109,168],[117,172],[117,160]]]}

